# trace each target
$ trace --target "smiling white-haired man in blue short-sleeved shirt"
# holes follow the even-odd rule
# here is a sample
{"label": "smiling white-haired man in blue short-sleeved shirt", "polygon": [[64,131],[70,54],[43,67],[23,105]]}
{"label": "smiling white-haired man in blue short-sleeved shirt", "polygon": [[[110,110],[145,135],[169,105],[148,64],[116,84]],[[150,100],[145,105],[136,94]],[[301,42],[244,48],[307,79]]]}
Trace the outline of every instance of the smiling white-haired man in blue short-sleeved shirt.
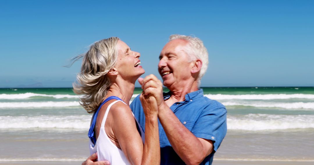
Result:
{"label": "smiling white-haired man in blue short-sleeved shirt", "polygon": [[[199,89],[208,65],[207,50],[199,38],[171,35],[159,59],[158,71],[170,92],[162,92],[154,75],[139,78],[139,83],[143,93],[157,100],[160,164],[211,164],[227,132],[227,111]],[[139,96],[130,107],[144,129]]]}

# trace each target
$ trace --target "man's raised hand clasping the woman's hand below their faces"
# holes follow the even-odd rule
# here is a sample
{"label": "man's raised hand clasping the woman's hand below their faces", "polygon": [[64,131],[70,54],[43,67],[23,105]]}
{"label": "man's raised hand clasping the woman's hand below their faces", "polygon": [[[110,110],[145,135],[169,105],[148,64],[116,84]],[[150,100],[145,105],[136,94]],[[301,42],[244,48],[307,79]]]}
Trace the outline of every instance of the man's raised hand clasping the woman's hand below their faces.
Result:
{"label": "man's raised hand clasping the woman's hand below their faces", "polygon": [[145,78],[138,78],[138,82],[142,86],[143,95],[152,95],[157,101],[158,108],[164,103],[163,88],[161,81],[153,74]]}

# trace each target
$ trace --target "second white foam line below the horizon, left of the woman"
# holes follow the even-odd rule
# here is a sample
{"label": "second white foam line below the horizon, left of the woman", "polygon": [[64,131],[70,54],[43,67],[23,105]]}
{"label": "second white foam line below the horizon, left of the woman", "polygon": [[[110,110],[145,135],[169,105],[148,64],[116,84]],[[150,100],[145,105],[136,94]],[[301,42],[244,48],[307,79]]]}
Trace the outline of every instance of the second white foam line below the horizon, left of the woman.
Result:
{"label": "second white foam line below the horizon, left of the woman", "polygon": [[41,108],[41,107],[73,107],[80,106],[78,101],[65,102],[0,102],[0,108]]}

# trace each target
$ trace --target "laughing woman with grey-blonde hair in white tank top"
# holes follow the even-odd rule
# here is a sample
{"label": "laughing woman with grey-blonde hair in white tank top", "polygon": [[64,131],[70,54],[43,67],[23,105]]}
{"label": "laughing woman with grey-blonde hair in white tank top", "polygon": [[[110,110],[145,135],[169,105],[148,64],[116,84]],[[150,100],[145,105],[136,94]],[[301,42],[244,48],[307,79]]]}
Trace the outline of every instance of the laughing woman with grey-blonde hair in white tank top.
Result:
{"label": "laughing woman with grey-blonde hair in white tank top", "polygon": [[[145,71],[140,53],[117,37],[95,42],[83,55],[78,83],[81,105],[94,113],[89,129],[90,153],[115,164],[160,164],[158,108],[154,97],[141,94],[145,135],[129,108],[134,83]],[[144,144],[143,144],[144,143]]]}

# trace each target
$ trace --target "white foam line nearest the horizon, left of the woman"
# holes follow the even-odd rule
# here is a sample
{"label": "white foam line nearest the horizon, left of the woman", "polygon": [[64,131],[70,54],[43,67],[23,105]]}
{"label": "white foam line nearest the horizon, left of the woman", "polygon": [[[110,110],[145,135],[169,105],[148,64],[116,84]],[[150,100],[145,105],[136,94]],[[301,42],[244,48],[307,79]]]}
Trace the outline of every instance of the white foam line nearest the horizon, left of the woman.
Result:
{"label": "white foam line nearest the horizon, left of the woman", "polygon": [[56,94],[56,95],[47,95],[39,93],[20,93],[20,94],[0,94],[0,99],[25,99],[30,97],[53,97],[53,98],[78,98],[78,95],[69,95],[69,94]]}

